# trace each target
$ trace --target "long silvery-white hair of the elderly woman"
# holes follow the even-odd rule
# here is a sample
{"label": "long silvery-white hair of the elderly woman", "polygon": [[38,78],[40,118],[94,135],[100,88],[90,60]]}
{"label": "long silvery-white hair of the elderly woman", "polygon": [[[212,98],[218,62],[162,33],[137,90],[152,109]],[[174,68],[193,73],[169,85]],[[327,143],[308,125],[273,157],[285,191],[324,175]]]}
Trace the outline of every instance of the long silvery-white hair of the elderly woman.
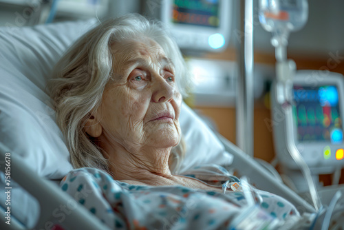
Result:
{"label": "long silvery-white hair of the elderly woman", "polygon": [[[98,109],[105,85],[112,76],[111,44],[142,36],[157,42],[175,65],[176,83],[182,96],[191,87],[190,74],[178,45],[158,21],[148,21],[140,14],[127,14],[100,23],[83,35],[62,56],[49,83],[50,95],[74,168],[96,167],[109,170],[107,154],[89,136],[84,126],[91,112]],[[169,166],[177,173],[184,158],[184,141],[173,147]]]}

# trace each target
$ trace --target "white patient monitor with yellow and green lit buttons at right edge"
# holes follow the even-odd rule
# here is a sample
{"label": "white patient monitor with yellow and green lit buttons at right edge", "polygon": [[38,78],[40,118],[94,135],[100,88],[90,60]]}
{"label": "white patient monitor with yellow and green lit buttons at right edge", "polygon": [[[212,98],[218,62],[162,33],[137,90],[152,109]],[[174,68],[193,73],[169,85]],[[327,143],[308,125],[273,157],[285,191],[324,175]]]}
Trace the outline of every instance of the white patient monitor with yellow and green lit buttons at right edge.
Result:
{"label": "white patient monitor with yellow and green lit buttons at right edge", "polygon": [[[275,149],[284,173],[298,169],[286,150],[286,118],[272,87]],[[344,166],[344,77],[333,72],[303,70],[293,78],[293,140],[313,175],[332,174]],[[296,179],[296,180],[295,180]]]}

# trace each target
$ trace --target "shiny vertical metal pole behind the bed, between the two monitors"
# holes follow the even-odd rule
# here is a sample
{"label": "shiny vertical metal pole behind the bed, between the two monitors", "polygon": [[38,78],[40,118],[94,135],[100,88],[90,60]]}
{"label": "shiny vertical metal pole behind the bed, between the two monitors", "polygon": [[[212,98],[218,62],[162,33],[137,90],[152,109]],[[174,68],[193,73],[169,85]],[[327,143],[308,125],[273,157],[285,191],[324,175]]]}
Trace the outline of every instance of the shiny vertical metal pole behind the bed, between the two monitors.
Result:
{"label": "shiny vertical metal pole behind the bed, between the two monitors", "polygon": [[[239,2],[239,3],[238,3]],[[237,48],[237,98],[236,144],[248,156],[253,157],[253,1],[235,1],[237,25],[235,41]]]}

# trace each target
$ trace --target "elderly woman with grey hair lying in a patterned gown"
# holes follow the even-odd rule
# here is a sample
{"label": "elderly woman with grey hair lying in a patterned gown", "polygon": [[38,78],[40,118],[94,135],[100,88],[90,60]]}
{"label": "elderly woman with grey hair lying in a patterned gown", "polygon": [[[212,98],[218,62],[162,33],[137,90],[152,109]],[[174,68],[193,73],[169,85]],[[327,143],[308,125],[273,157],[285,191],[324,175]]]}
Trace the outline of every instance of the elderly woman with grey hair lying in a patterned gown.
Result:
{"label": "elderly woman with grey hair lying in a patterned gown", "polygon": [[[217,184],[177,174],[185,154],[178,119],[190,83],[178,46],[159,23],[129,14],[85,34],[50,84],[76,168],[62,189],[109,227],[161,229],[166,216],[185,209],[181,229],[227,227],[246,201],[241,193],[222,194],[222,183],[238,180],[224,168],[214,170]],[[280,220],[297,212],[282,198],[265,197],[261,204]]]}

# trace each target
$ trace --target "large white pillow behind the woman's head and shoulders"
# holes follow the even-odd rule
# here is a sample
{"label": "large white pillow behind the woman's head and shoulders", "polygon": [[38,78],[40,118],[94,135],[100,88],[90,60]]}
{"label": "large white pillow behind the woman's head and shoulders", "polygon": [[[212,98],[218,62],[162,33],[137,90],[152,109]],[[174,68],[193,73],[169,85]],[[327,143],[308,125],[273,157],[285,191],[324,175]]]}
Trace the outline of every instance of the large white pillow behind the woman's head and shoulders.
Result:
{"label": "large white pillow behind the woman's head and shoulders", "polygon": [[[95,24],[92,19],[0,28],[0,141],[50,179],[63,178],[72,165],[45,85],[61,54]],[[180,171],[203,163],[231,163],[222,143],[186,105],[180,123],[188,145]]]}

